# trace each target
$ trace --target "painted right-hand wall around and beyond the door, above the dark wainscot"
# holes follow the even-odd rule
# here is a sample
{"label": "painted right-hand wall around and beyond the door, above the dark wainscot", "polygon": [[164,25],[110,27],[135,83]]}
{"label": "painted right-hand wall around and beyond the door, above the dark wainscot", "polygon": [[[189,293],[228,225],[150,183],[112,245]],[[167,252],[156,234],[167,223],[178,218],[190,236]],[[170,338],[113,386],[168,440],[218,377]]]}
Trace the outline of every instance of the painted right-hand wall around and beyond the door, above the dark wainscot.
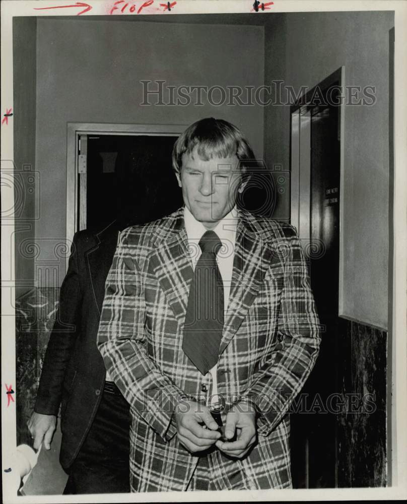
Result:
{"label": "painted right-hand wall around and beyond the door, above the dark wainscot", "polygon": [[[389,206],[389,30],[391,12],[293,13],[270,20],[265,84],[312,88],[345,66],[346,85],[375,86],[373,106],[345,111],[343,315],[387,328]],[[267,43],[267,42],[266,42]],[[265,159],[289,166],[289,107],[265,109]],[[285,208],[282,201],[280,208]],[[278,214],[276,214],[278,215]]]}

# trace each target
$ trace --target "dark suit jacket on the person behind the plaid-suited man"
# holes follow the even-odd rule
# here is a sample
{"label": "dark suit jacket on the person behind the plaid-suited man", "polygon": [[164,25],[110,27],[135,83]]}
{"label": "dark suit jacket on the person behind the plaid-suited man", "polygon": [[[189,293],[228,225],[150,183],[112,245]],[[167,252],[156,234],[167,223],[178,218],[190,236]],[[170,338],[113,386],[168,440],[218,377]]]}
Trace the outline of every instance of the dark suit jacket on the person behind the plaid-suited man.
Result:
{"label": "dark suit jacket on the person behind the plaid-suited man", "polygon": [[34,411],[57,415],[60,463],[73,463],[98,409],[106,369],[96,346],[105,280],[116,249],[114,223],[101,233],[75,234],[57,319],[45,353]]}

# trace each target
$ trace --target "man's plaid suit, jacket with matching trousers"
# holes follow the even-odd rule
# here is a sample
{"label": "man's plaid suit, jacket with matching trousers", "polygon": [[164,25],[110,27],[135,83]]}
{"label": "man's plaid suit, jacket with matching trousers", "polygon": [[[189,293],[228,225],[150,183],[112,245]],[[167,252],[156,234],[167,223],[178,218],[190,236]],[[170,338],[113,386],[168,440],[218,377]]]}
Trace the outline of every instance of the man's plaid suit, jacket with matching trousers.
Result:
{"label": "man's plaid suit, jacket with matching trousers", "polygon": [[[200,394],[182,350],[193,270],[183,208],[119,237],[98,334],[105,366],[130,403],[133,491],[185,490],[198,457],[179,444],[177,401]],[[258,441],[243,460],[209,455],[216,489],[291,487],[289,415],[319,348],[319,322],[294,228],[239,212],[218,360],[228,405],[256,404]]]}

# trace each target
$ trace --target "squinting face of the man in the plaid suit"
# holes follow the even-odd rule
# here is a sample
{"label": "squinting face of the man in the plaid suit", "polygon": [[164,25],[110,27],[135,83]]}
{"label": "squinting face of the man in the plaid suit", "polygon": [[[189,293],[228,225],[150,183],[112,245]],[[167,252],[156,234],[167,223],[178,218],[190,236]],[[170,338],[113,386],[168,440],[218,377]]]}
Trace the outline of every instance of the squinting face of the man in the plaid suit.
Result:
{"label": "squinting face of the man in the plaid suit", "polygon": [[202,161],[197,147],[182,156],[180,173],[176,176],[184,203],[207,229],[213,229],[235,205],[240,180],[238,162],[235,155]]}

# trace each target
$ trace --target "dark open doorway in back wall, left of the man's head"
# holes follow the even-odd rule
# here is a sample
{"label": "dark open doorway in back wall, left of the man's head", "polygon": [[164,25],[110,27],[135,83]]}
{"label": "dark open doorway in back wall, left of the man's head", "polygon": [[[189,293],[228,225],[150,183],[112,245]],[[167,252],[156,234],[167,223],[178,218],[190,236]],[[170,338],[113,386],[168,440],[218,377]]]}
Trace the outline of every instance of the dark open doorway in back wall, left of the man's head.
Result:
{"label": "dark open doorway in back wall, left of the man's head", "polygon": [[[81,135],[86,172],[80,173],[79,226],[119,229],[168,215],[182,205],[171,164],[175,136]],[[82,182],[82,177],[86,177]],[[84,200],[84,201],[83,201]]]}

